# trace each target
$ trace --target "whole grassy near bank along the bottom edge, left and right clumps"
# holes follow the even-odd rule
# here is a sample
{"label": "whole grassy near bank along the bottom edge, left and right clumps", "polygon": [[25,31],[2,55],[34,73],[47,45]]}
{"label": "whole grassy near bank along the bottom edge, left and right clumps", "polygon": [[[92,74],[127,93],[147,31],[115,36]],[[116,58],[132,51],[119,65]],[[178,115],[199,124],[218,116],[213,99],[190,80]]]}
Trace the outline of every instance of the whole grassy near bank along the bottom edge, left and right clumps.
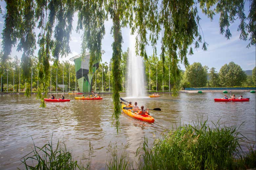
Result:
{"label": "whole grassy near bank along the bottom edge, left and right clumps", "polygon": [[[137,149],[137,167],[133,167],[125,154],[112,154],[106,159],[106,169],[247,169],[256,167],[255,148],[241,150],[238,127],[222,126],[217,122],[208,125],[207,121],[194,122],[193,125],[180,126],[154,141],[148,147],[147,139]],[[244,138],[245,139],[245,138]],[[90,152],[92,147],[90,147]],[[87,165],[81,166],[74,161],[72,153],[65,146],[53,149],[48,143],[42,148],[34,147],[32,156],[25,156],[23,163],[26,169],[91,169],[90,159]],[[89,155],[91,155],[89,153]],[[89,156],[90,158],[90,156]],[[32,159],[34,165],[27,162]],[[48,161],[46,161],[48,160]]]}

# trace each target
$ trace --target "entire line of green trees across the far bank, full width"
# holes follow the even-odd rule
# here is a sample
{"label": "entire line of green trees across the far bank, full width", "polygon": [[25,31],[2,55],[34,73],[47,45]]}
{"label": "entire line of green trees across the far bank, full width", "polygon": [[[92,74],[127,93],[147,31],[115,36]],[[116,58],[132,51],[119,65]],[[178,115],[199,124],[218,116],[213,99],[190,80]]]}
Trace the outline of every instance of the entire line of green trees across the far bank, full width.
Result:
{"label": "entire line of green trees across the far bank, full width", "polygon": [[[121,55],[121,91],[126,90],[126,73],[129,49]],[[36,91],[38,87],[38,59],[32,59],[32,89]],[[24,70],[21,69],[20,60],[15,56],[7,62],[8,69],[2,74],[2,91],[25,91],[26,86],[31,87],[31,76],[29,79],[24,79]],[[111,63],[100,63],[92,81],[92,90],[109,91],[112,90],[113,76],[111,74]],[[246,75],[241,67],[234,62],[224,64],[217,73],[215,68],[209,69],[207,66],[202,66],[201,63],[193,63],[189,65],[183,72],[180,68],[177,72],[178,79],[174,79],[171,69],[172,65],[169,62],[162,64],[156,56],[149,56],[144,61],[145,76],[147,81],[146,90],[171,90],[174,85],[179,85],[178,88],[185,87],[232,87],[232,86],[253,86],[256,85],[255,67],[252,71],[252,76]],[[8,70],[8,71],[7,71]],[[49,91],[60,91],[56,88],[56,84],[68,85],[68,90],[73,91],[78,88],[75,83],[75,65],[68,61],[58,62],[50,67],[51,89]],[[7,85],[8,72],[8,85]],[[57,82],[56,82],[57,81]],[[96,83],[95,83],[96,81]],[[26,83],[26,84],[25,84]],[[76,87],[75,87],[76,85]],[[81,91],[81,90],[80,90]]]}

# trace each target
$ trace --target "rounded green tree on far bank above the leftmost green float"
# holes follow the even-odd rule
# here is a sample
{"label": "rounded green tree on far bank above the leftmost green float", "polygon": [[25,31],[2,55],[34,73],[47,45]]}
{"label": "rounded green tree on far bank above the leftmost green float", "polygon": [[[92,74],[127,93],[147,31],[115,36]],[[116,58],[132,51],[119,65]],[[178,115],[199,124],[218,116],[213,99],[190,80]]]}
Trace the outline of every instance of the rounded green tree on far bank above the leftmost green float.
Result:
{"label": "rounded green tree on far bank above the leftmost green float", "polygon": [[207,83],[207,71],[201,63],[193,63],[187,67],[185,79],[191,87],[204,87]]}

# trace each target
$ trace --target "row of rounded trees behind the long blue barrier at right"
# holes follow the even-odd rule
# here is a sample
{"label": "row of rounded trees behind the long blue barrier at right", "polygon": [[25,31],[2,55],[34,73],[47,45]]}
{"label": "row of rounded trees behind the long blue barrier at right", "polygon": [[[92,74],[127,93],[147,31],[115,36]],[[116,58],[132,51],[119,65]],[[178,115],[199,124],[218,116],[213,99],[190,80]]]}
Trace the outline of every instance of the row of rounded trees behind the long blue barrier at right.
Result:
{"label": "row of rounded trees behind the long blue barrier at right", "polygon": [[233,86],[254,86],[256,85],[255,67],[252,76],[246,75],[242,68],[230,62],[221,67],[217,73],[215,68],[209,70],[201,63],[193,63],[187,67],[182,76],[181,87],[233,87]]}

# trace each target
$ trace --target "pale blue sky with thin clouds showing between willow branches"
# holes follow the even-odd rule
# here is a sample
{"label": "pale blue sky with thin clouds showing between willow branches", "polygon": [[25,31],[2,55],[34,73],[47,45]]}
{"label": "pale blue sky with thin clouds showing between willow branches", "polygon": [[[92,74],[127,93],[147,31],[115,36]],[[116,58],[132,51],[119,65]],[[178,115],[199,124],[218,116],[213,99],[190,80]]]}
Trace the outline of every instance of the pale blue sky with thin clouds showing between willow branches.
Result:
{"label": "pale blue sky with thin clouds showing between willow branches", "polygon": [[[0,2],[1,8],[3,13],[5,12],[5,3]],[[245,14],[248,13],[249,5],[248,3],[245,4]],[[1,14],[3,16],[3,14]],[[207,47],[207,51],[202,50],[202,44],[200,44],[200,48],[194,50],[194,54],[188,56],[188,60],[190,64],[194,62],[200,62],[203,66],[206,65],[209,68],[216,68],[216,71],[219,71],[220,68],[224,64],[228,64],[229,62],[233,61],[236,64],[240,65],[243,70],[252,70],[255,67],[256,63],[256,50],[255,46],[250,47],[249,49],[246,48],[249,41],[243,41],[239,39],[240,33],[237,32],[239,22],[236,21],[232,23],[230,26],[230,31],[232,37],[227,40],[224,35],[220,34],[219,28],[219,16],[216,15],[214,20],[211,22],[209,18],[207,18],[204,14],[200,11],[200,25],[203,30],[204,40],[209,44]],[[0,31],[2,32],[3,29],[3,17],[0,17]],[[76,24],[77,24],[77,14],[75,14],[74,21],[73,21],[73,31],[71,34],[71,41],[70,41],[70,49],[72,54],[69,54],[66,58],[61,58],[60,60],[69,60],[71,57],[81,53],[81,36],[80,34],[76,33]],[[105,54],[102,55],[102,61],[108,62],[112,57],[112,47],[111,44],[113,42],[113,37],[110,34],[112,26],[112,21],[105,21],[105,30],[106,34],[104,39],[102,40],[102,49],[105,50]],[[36,35],[38,33],[36,32]],[[123,28],[122,29],[122,36],[123,36],[123,44],[122,50],[126,51],[129,47],[129,36],[130,36],[130,29]],[[2,41],[2,37],[0,38]],[[160,40],[158,41],[157,45],[157,53],[160,54]],[[35,54],[37,55],[38,48],[35,50]],[[151,55],[153,53],[151,46],[147,47],[147,54]],[[11,56],[17,55],[21,57],[22,52],[17,52],[16,47],[12,49]],[[184,66],[181,64],[181,69],[185,70]]]}

